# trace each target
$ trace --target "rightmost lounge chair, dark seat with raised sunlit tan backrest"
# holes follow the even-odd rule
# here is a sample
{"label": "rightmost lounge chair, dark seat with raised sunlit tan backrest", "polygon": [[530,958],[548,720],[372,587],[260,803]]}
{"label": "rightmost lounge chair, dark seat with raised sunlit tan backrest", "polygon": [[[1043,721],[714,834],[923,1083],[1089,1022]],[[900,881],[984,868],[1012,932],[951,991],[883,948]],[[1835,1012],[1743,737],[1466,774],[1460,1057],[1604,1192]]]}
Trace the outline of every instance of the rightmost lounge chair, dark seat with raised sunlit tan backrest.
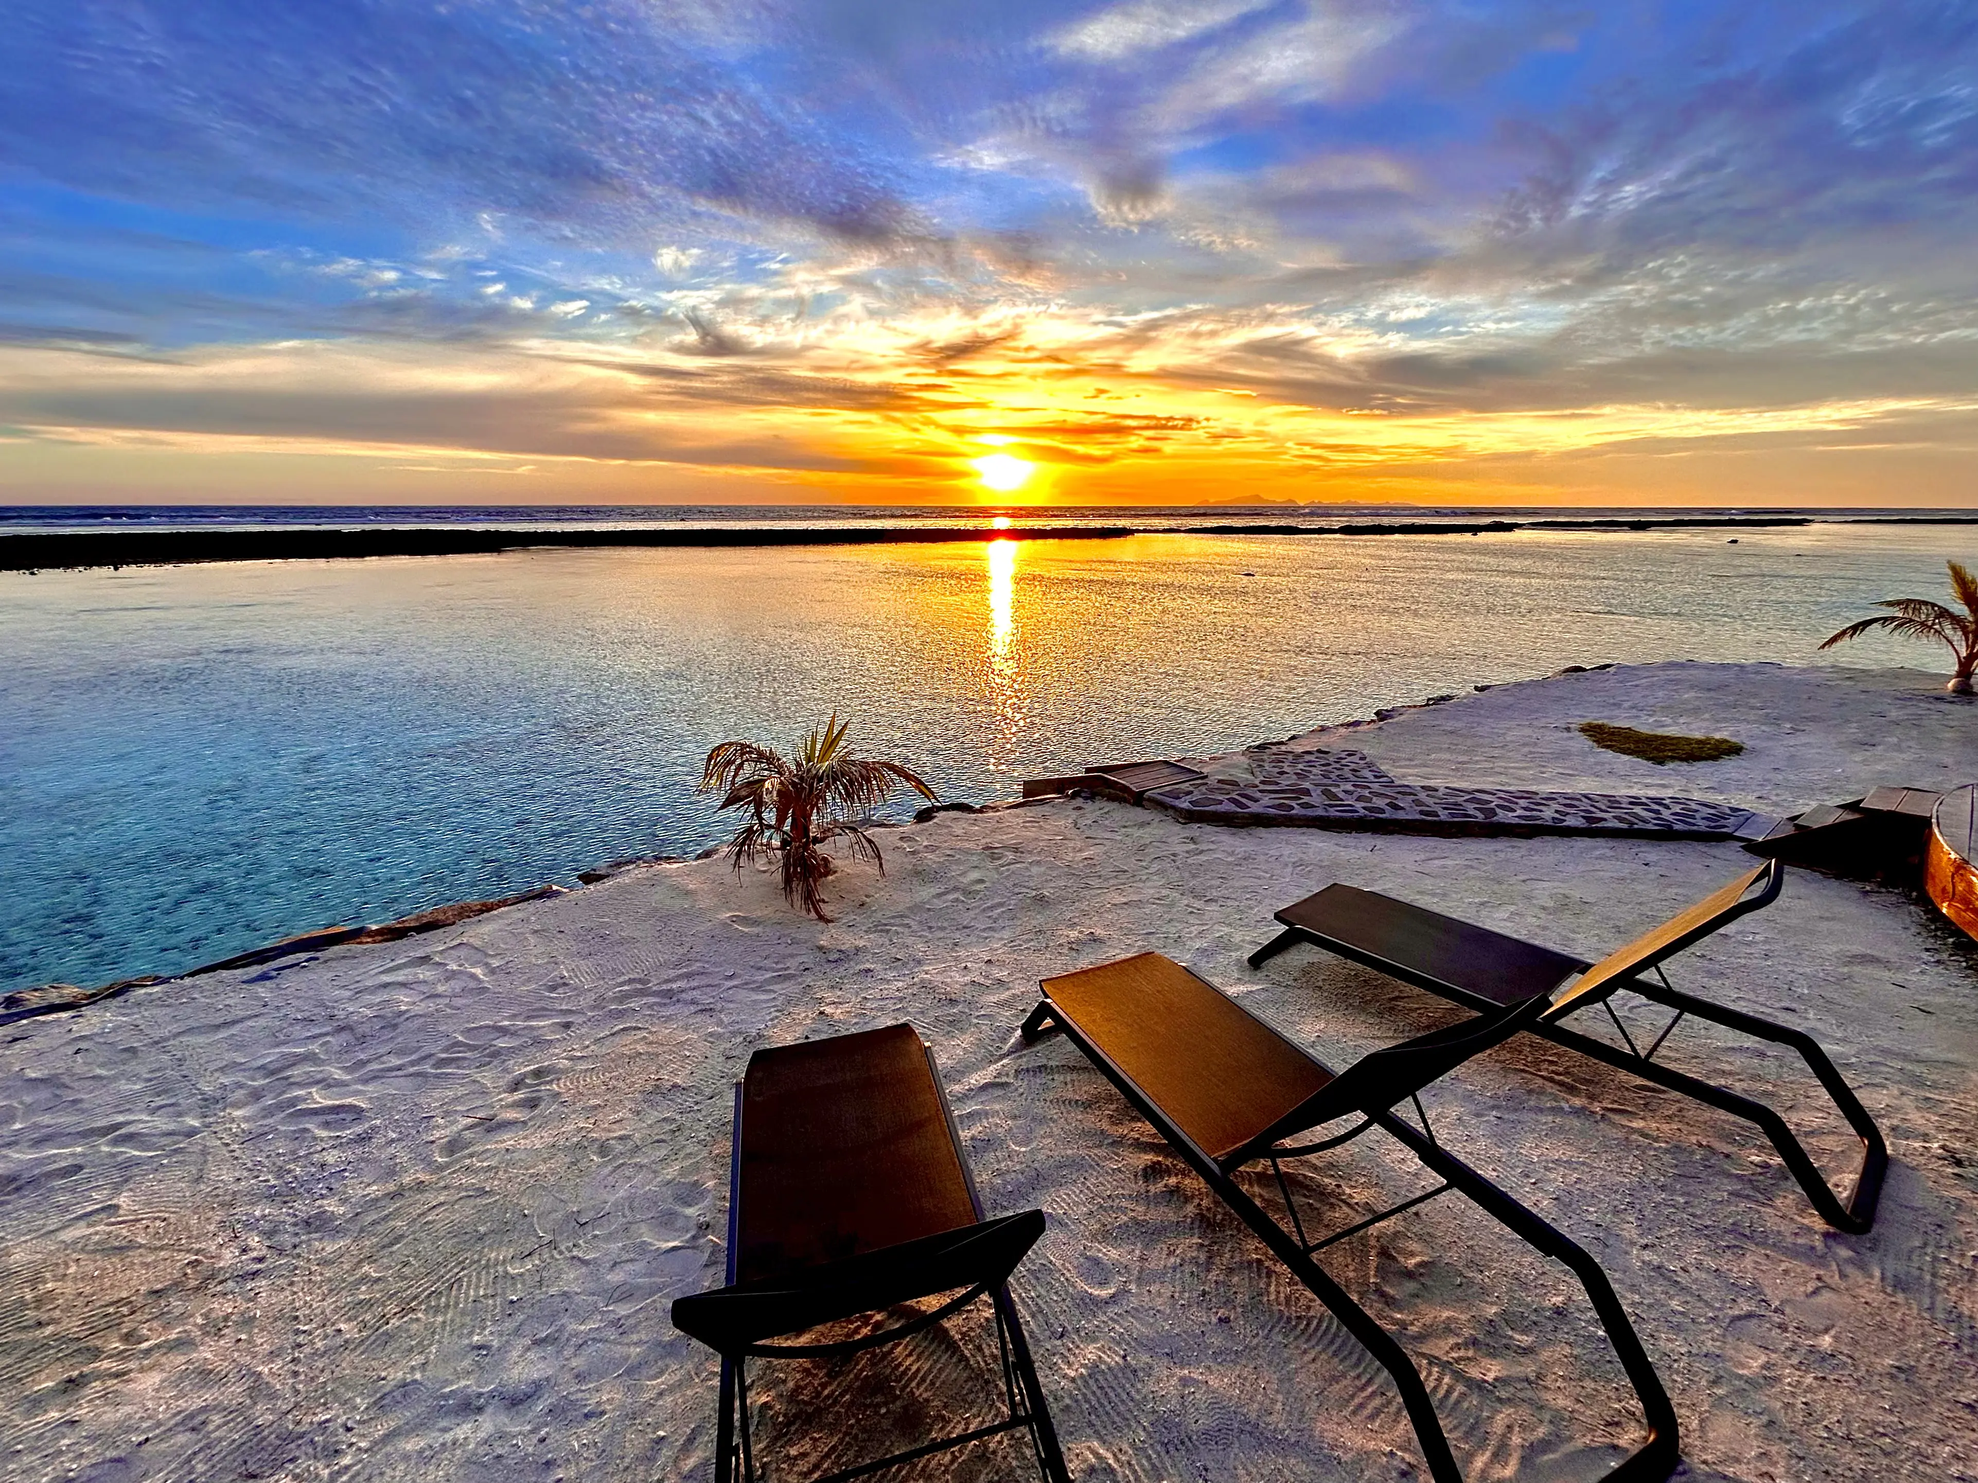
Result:
{"label": "rightmost lounge chair, dark seat with raised sunlit tan backrest", "polygon": [[[1675,953],[1737,921],[1747,912],[1774,902],[1784,880],[1786,868],[1778,860],[1770,860],[1598,963],[1505,937],[1487,927],[1396,902],[1393,896],[1333,884],[1278,912],[1284,931],[1250,955],[1250,967],[1260,967],[1296,943],[1311,943],[1470,1008],[1489,1010],[1501,1004],[1529,1003],[1533,997],[1553,999],[1559,995],[1543,1016],[1525,1026],[1527,1030],[1545,1036],[1555,1046],[1578,1050],[1608,1066],[1634,1072],[1656,1086],[1665,1086],[1733,1117],[1756,1123],[1772,1139],[1772,1147],[1778,1149],[1778,1157],[1806,1190],[1806,1198],[1814,1202],[1814,1210],[1830,1226],[1863,1232],[1875,1224],[1875,1202],[1889,1169],[1889,1149],[1881,1141],[1875,1119],[1867,1115],[1842,1074],[1834,1070],[1834,1062],[1828,1060],[1820,1042],[1804,1030],[1679,993],[1662,971],[1662,965]],[[1756,892],[1753,892],[1754,886]],[[1654,981],[1644,977],[1652,969]],[[1648,1050],[1636,1042],[1620,1014],[1614,1012],[1612,997],[1620,989],[1675,1010],[1675,1018],[1650,1040]],[[1594,1004],[1600,1004],[1614,1020],[1626,1050],[1561,1026],[1569,1014]],[[1820,1078],[1820,1086],[1834,1097],[1842,1117],[1861,1139],[1861,1173],[1855,1177],[1853,1198],[1847,1204],[1840,1202],[1840,1196],[1828,1186],[1820,1169],[1776,1111],[1656,1060],[1656,1052],[1662,1050],[1685,1014],[1800,1052],[1806,1066]]]}

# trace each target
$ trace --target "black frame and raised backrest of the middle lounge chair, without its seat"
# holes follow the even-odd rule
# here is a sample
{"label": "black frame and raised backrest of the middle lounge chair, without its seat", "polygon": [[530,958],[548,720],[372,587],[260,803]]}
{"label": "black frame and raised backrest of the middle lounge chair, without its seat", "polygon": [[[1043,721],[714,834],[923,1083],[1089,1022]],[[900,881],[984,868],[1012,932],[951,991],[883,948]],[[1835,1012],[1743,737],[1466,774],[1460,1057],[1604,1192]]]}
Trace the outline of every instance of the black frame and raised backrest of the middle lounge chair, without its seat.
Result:
{"label": "black frame and raised backrest of the middle lounge chair, without its seat", "polygon": [[[1211,993],[1222,997],[1232,1008],[1236,1008],[1236,1012],[1260,1024],[1270,1036],[1284,1042],[1276,1030],[1242,1008],[1242,1004],[1230,1001],[1228,995],[1222,995],[1222,991],[1207,979],[1193,973],[1193,969],[1181,971],[1197,979]],[[1044,981],[1042,1001],[1023,1022],[1023,1040],[1034,1042],[1052,1030],[1062,1030],[1064,1036],[1078,1046],[1078,1050],[1084,1052],[1084,1056],[1100,1072],[1104,1072],[1106,1080],[1120,1090],[1120,1095],[1124,1095],[1133,1109],[1139,1111],[1139,1115],[1145,1117],[1163,1139],[1167,1139],[1169,1147],[1175,1149],[1175,1153],[1179,1153],[1189,1167],[1203,1177],[1216,1198],[1234,1210],[1236,1216],[1252,1232],[1256,1232],[1272,1254],[1292,1271],[1292,1275],[1298,1277],[1298,1281],[1302,1281],[1305,1289],[1311,1291],[1311,1295],[1341,1321],[1341,1325],[1345,1325],[1345,1329],[1367,1349],[1369,1354],[1373,1354],[1381,1368],[1385,1368],[1394,1380],[1394,1388],[1400,1392],[1400,1402],[1414,1428],[1414,1436],[1420,1441],[1422,1455],[1428,1461],[1428,1473],[1434,1483],[1462,1483],[1462,1469],[1456,1465],[1456,1457],[1450,1451],[1448,1436],[1442,1430],[1442,1418],[1436,1416],[1436,1406],[1428,1396],[1428,1386],[1422,1382],[1420,1370],[1416,1370],[1414,1360],[1400,1347],[1394,1335],[1383,1329],[1381,1323],[1367,1313],[1367,1309],[1353,1301],[1353,1297],[1325,1273],[1313,1256],[1335,1242],[1357,1236],[1363,1230],[1379,1226],[1381,1222],[1426,1204],[1440,1194],[1448,1194],[1450,1190],[1464,1194],[1472,1204],[1497,1220],[1505,1230],[1533,1250],[1543,1252],[1545,1256],[1567,1265],[1586,1291],[1586,1297],[1600,1319],[1600,1327],[1606,1331],[1608,1343],[1614,1349],[1614,1356],[1620,1360],[1622,1370],[1628,1376],[1628,1384],[1634,1388],[1634,1394],[1642,1404],[1642,1414],[1648,1422],[1648,1439],[1608,1473],[1604,1473],[1602,1483],[1660,1483],[1675,1471],[1679,1455],[1675,1408],[1669,1404],[1669,1396],[1663,1390],[1662,1378],[1656,1374],[1656,1366],[1650,1362],[1648,1352],[1642,1349],[1642,1341],[1628,1323],[1628,1313],[1614,1295],[1614,1287],[1608,1281],[1606,1271],[1602,1271],[1600,1264],[1594,1262],[1594,1258],[1574,1244],[1565,1232],[1527,1210],[1511,1198],[1511,1194],[1444,1149],[1436,1141],[1434,1129],[1428,1123],[1428,1113],[1422,1109],[1422,1088],[1472,1056],[1482,1054],[1511,1034],[1517,1034],[1519,1028],[1543,1012],[1543,1001],[1513,1004],[1509,1008],[1491,1006],[1491,1012],[1485,1016],[1478,1016],[1446,1030],[1434,1030],[1398,1046],[1389,1046],[1387,1050],[1363,1056],[1337,1076],[1331,1076],[1329,1068],[1321,1062],[1305,1056],[1305,1060],[1311,1060],[1313,1066],[1331,1076],[1329,1084],[1315,1097],[1309,1097],[1304,1105],[1294,1107],[1290,1113],[1276,1119],[1244,1147],[1218,1159],[1191,1139],[1189,1133],[1183,1131],[1183,1127],[1139,1084],[1135,1084],[1135,1080],[1112,1056],[1108,1056],[1092,1036],[1078,1026],[1076,1018],[1052,1001],[1050,983],[1052,981],[1048,979]],[[1290,1046],[1290,1042],[1284,1044]],[[1412,1101],[1414,1111],[1422,1121],[1420,1129],[1412,1127],[1406,1119],[1394,1113],[1394,1107],[1400,1101]],[[1300,1133],[1307,1133],[1325,1123],[1353,1115],[1361,1121],[1343,1133],[1321,1137],[1311,1143],[1286,1143],[1286,1139],[1294,1139]],[[1282,1161],[1337,1149],[1375,1127],[1412,1153],[1422,1167],[1436,1175],[1442,1182],[1432,1190],[1402,1200],[1400,1204],[1381,1210],[1379,1214],[1359,1220],[1343,1230],[1321,1238],[1307,1236],[1304,1220],[1300,1218],[1298,1206],[1292,1198],[1290,1182],[1284,1177]],[[1234,1178],[1240,1169],[1258,1161],[1268,1163],[1272,1169],[1278,1190],[1284,1198],[1290,1226],[1272,1216]]]}

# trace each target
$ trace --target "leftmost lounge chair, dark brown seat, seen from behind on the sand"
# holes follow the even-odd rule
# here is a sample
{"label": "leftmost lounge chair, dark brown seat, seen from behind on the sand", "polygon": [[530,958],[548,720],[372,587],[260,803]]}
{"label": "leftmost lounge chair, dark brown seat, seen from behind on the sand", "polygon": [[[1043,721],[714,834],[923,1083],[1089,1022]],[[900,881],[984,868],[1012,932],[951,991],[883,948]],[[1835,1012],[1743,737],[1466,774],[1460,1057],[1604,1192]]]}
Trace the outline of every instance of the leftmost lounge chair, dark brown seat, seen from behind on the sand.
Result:
{"label": "leftmost lounge chair, dark brown seat, seen from behind on the sand", "polygon": [[[736,1084],[728,1285],[682,1297],[673,1323],[722,1356],[716,1483],[756,1479],[750,1358],[827,1358],[916,1335],[987,1297],[1003,1358],[1003,1420],[829,1473],[864,1477],[1027,1430],[1038,1473],[1068,1483],[1009,1275],[1042,1210],[985,1220],[934,1056],[910,1024],[758,1050]],[[886,1327],[767,1343],[942,1295]],[[847,1418],[849,1420],[849,1418]]]}

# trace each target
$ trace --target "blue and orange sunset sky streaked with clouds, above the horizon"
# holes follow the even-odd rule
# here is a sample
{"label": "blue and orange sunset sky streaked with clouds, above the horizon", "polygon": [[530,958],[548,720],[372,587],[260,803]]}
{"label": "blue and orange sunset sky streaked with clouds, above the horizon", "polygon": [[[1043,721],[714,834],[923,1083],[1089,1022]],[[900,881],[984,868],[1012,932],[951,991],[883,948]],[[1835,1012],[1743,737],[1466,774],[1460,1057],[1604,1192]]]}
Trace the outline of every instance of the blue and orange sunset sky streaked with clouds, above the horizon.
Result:
{"label": "blue and orange sunset sky streaked with clouds, above the horizon", "polygon": [[0,502],[1978,506],[1970,0],[4,24]]}

